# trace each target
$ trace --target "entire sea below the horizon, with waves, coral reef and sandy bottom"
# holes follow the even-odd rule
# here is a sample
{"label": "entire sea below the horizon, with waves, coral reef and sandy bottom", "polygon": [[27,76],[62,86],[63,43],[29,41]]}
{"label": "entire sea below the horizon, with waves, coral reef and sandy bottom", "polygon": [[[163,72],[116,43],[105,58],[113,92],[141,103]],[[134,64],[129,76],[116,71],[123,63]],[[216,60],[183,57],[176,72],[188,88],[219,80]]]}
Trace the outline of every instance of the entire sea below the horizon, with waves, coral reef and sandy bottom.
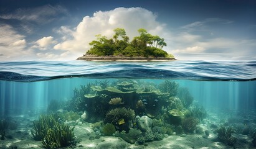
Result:
{"label": "entire sea below the horizon, with waves, coral reef and sandy bottom", "polygon": [[256,61],[0,61],[0,148],[256,148]]}

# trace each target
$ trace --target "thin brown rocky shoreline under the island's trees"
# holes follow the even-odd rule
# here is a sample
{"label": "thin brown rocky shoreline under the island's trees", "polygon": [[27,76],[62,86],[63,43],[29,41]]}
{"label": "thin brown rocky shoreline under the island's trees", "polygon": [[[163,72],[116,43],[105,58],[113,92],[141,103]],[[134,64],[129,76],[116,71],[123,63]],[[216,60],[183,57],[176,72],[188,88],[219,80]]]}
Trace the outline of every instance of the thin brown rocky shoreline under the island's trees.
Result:
{"label": "thin brown rocky shoreline under the island's trees", "polygon": [[127,57],[127,56],[95,56],[95,55],[83,55],[78,57],[77,60],[87,61],[171,61],[175,58],[166,57]]}

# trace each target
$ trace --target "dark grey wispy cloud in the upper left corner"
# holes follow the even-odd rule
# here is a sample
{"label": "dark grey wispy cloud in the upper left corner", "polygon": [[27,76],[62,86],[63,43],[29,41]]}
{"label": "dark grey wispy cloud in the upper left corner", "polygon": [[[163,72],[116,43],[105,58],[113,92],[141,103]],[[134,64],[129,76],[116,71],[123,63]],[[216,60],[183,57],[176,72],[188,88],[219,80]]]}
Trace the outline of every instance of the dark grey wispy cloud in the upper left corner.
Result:
{"label": "dark grey wispy cloud in the upper left corner", "polygon": [[60,5],[50,4],[34,8],[20,8],[11,14],[2,14],[1,19],[5,20],[25,20],[45,24],[55,19],[60,14],[67,14],[67,9]]}

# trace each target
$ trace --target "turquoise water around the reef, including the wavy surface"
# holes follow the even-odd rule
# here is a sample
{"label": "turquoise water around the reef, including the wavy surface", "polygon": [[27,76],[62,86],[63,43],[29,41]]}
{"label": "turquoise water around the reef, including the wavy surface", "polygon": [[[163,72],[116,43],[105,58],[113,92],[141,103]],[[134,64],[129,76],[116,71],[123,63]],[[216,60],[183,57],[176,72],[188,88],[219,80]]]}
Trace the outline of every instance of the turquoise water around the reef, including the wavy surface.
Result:
{"label": "turquoise water around the reef, including the wavy surface", "polygon": [[[246,121],[250,131],[253,132],[256,125],[255,79],[256,61],[1,61],[0,119],[28,114],[31,115],[27,118],[32,124],[32,120],[37,119],[40,114],[47,114],[51,101],[72,101],[75,99],[74,90],[81,89],[81,86],[87,86],[88,83],[97,86],[105,83],[107,86],[117,88],[116,84],[126,81],[133,85],[138,84],[137,89],[141,86],[147,88],[149,84],[154,86],[154,89],[158,89],[159,84],[168,80],[178,84],[179,88],[186,88],[189,91],[194,99],[190,106],[199,104],[204,107],[208,115],[205,119],[211,120],[214,117],[217,119],[214,122],[219,123],[218,126],[222,125],[221,120],[239,119],[242,120],[241,124]],[[99,93],[99,91],[93,92],[93,94]],[[146,111],[154,109],[158,103],[161,105],[161,98],[157,99],[157,104],[151,103],[149,99],[150,97],[145,104]],[[89,109],[84,106],[83,109],[75,112]],[[111,109],[108,102],[105,106]],[[125,103],[125,107],[132,109],[133,106]],[[72,107],[66,108],[68,111],[70,109]],[[155,112],[159,112],[161,107],[156,109]],[[146,111],[138,114],[135,109],[136,115],[140,116],[148,114]],[[89,115],[89,117],[90,119],[85,120],[84,123],[97,122],[92,120],[92,117],[95,118],[97,115]],[[202,121],[202,124],[206,122]],[[239,135],[238,130],[237,135]],[[248,136],[252,137],[252,134]],[[15,135],[13,137],[15,138]],[[31,134],[27,134],[27,138],[31,139]],[[251,142],[247,142],[247,146],[253,147]]]}

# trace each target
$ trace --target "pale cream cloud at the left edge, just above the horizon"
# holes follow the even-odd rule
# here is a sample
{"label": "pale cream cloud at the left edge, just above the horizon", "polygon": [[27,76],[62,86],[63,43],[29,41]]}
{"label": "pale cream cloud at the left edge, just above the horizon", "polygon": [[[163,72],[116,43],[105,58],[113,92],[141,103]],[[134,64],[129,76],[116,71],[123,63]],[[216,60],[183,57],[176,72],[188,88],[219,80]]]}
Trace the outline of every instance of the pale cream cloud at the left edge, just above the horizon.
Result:
{"label": "pale cream cloud at the left edge, just above the horizon", "polygon": [[26,50],[25,36],[18,34],[11,25],[1,24],[0,30],[0,60],[21,60],[32,54],[31,50]]}

